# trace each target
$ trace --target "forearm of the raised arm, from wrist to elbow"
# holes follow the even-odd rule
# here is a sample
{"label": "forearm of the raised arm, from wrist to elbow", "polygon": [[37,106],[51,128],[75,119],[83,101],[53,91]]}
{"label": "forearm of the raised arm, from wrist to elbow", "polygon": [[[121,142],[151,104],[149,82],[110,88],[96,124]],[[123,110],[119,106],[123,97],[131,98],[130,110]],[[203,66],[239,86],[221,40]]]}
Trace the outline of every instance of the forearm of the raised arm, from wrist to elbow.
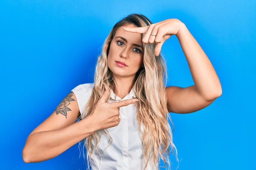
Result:
{"label": "forearm of the raised arm, from wrist to elbow", "polygon": [[213,100],[222,93],[220,80],[210,60],[184,24],[176,34],[189,64],[196,93]]}

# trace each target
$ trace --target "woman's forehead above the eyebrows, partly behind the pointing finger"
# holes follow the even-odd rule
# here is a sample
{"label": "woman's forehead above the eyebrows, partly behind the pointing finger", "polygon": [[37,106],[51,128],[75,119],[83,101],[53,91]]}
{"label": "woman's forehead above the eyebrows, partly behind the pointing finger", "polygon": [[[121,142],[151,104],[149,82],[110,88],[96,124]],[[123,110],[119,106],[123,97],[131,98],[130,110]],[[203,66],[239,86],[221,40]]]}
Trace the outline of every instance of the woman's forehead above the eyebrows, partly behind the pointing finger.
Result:
{"label": "woman's forehead above the eyebrows, partly behind the pointing finger", "polygon": [[[127,25],[124,25],[124,26],[125,27],[133,27],[133,28],[137,27],[134,24],[127,24]],[[128,42],[142,45],[141,33],[132,33],[132,32],[124,31],[123,26],[121,26],[120,28],[117,29],[117,31],[114,35],[114,39],[116,37],[123,37]]]}

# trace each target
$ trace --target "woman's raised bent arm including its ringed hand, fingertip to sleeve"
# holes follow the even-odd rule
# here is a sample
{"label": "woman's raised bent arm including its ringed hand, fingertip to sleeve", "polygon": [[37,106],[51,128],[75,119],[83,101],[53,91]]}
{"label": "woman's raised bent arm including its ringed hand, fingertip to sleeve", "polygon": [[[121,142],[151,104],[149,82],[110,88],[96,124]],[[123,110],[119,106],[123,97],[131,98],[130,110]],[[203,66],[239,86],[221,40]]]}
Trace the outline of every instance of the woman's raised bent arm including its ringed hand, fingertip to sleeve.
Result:
{"label": "woman's raised bent arm including its ringed hand, fingertip to sleeve", "polygon": [[155,55],[158,56],[162,44],[176,35],[189,64],[195,85],[186,88],[170,86],[166,88],[168,111],[191,113],[211,104],[222,94],[219,78],[198,42],[180,20],[168,19],[150,26],[124,28],[126,31],[145,33],[144,43],[157,43]]}

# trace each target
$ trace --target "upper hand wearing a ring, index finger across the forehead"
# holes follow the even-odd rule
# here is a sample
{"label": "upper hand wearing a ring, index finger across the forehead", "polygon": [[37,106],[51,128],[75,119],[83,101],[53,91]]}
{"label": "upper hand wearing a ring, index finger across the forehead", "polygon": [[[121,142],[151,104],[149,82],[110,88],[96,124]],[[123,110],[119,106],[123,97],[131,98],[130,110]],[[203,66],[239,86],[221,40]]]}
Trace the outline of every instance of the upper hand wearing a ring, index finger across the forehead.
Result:
{"label": "upper hand wearing a ring, index finger across the forehead", "polygon": [[177,35],[181,26],[184,26],[184,24],[180,20],[168,19],[149,26],[135,28],[123,27],[123,29],[133,33],[145,33],[142,42],[148,44],[153,44],[156,42],[155,55],[158,56],[164,42],[170,38],[171,35]]}

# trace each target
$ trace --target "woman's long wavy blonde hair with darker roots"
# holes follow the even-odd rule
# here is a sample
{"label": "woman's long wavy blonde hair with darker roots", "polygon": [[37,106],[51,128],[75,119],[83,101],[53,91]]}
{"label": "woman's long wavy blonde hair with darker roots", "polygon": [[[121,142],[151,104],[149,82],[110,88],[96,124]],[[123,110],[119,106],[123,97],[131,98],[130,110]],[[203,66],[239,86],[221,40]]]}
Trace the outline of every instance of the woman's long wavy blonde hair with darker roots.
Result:
{"label": "woman's long wavy blonde hair with darker roots", "polygon": [[[148,26],[152,22],[144,15],[131,14],[117,22],[112,28],[103,44],[101,55],[98,57],[94,75],[94,87],[85,108],[85,117],[90,115],[95,104],[103,95],[103,87],[113,91],[116,89],[115,79],[107,65],[108,50],[117,29],[127,24],[141,27]],[[143,34],[141,36],[143,38]],[[170,147],[172,151],[176,150],[173,145],[172,131],[168,122],[168,120],[171,121],[171,118],[167,110],[165,92],[166,64],[161,55],[154,55],[155,44],[143,43],[143,48],[143,64],[137,71],[133,81],[133,89],[139,99],[139,102],[136,104],[137,125],[143,144],[144,170],[148,163],[152,162],[155,165],[155,169],[158,170],[160,159],[164,161],[166,167],[170,167]],[[103,132],[109,136],[108,131],[103,129],[93,132],[85,139],[88,166],[90,159],[93,159],[94,153],[98,151],[97,144]],[[110,137],[110,144],[111,140]]]}

